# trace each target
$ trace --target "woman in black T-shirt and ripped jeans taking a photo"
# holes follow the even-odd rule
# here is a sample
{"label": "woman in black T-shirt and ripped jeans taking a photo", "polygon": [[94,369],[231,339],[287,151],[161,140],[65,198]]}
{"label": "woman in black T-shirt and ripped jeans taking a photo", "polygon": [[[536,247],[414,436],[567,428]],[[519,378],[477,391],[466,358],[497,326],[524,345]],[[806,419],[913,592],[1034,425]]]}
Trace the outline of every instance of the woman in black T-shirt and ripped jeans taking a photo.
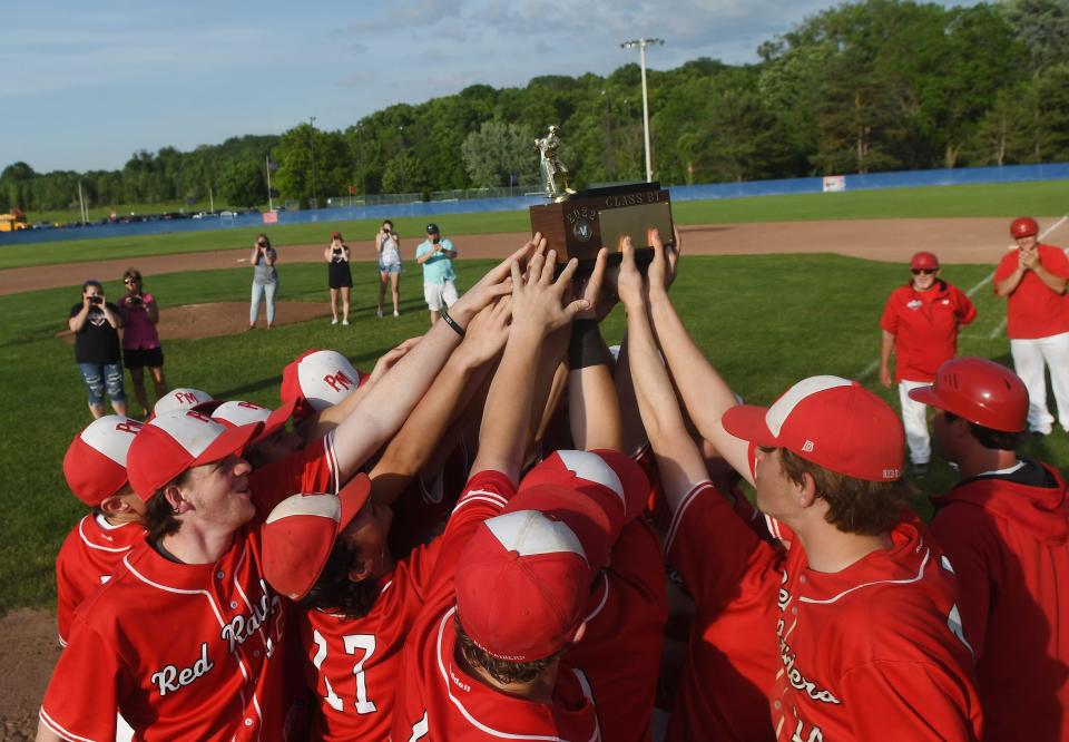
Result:
{"label": "woman in black T-shirt and ripped jeans taking a photo", "polygon": [[115,413],[126,417],[118,333],[122,314],[118,306],[107,301],[99,281],[81,284],[81,302],[70,307],[67,325],[75,333],[75,362],[86,382],[94,419],[104,414],[105,393],[110,398]]}

